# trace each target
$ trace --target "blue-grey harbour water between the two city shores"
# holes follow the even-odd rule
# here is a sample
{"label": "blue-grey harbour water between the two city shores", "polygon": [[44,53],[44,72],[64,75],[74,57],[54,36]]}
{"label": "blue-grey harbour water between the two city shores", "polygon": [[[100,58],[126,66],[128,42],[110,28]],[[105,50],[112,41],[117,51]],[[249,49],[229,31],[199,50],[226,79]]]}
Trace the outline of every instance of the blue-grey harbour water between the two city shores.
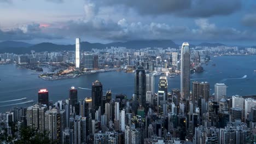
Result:
{"label": "blue-grey harbour water between the two city shores", "polygon": [[[216,66],[212,66],[216,64]],[[37,92],[40,88],[47,88],[49,99],[54,102],[68,98],[68,89],[71,86],[78,88],[78,98],[91,96],[92,82],[99,80],[103,90],[111,89],[113,94],[124,93],[128,98],[134,92],[134,74],[111,71],[92,75],[84,75],[77,79],[65,79],[46,81],[27,69],[17,69],[15,64],[0,65],[0,111],[6,111],[17,103],[29,100],[37,101]],[[203,65],[205,71],[191,75],[191,81],[207,81],[211,86],[211,94],[214,93],[214,84],[226,83],[227,95],[251,95],[256,94],[256,56],[222,56],[212,57],[208,65]],[[246,76],[245,76],[246,75]],[[160,76],[155,76],[155,91],[158,89]],[[246,78],[245,78],[246,77]],[[168,89],[180,88],[180,77],[168,77]],[[26,100],[8,101],[21,99]],[[8,102],[3,102],[8,101]],[[9,105],[9,106],[5,106]],[[31,103],[17,106],[28,106]]]}

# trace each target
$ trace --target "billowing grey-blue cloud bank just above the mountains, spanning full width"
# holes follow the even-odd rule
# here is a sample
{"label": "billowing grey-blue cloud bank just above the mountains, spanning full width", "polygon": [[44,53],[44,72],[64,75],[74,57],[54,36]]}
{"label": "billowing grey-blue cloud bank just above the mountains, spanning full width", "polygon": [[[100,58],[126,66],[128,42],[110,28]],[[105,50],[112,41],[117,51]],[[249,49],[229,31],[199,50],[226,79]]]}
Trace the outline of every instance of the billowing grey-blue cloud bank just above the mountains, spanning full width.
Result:
{"label": "billowing grey-blue cloud bank just above the mountains, spanning full width", "polygon": [[240,31],[231,27],[217,27],[208,19],[196,19],[196,27],[173,26],[158,22],[118,22],[97,17],[90,20],[51,23],[49,27],[40,27],[38,23],[23,25],[9,31],[0,31],[0,40],[32,39],[97,39],[108,41],[127,41],[137,39],[172,39],[190,41],[234,41],[256,40],[253,31]]}

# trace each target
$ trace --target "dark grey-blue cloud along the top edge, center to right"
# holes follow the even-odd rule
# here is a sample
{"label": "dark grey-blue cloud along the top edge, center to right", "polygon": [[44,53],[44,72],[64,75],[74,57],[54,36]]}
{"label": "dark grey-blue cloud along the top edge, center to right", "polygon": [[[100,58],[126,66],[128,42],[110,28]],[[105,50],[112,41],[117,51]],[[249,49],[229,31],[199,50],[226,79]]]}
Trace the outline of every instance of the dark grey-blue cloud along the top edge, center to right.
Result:
{"label": "dark grey-blue cloud along the top edge, center to right", "polygon": [[104,0],[96,2],[98,7],[123,5],[141,15],[168,15],[182,17],[210,17],[229,15],[241,9],[241,0]]}

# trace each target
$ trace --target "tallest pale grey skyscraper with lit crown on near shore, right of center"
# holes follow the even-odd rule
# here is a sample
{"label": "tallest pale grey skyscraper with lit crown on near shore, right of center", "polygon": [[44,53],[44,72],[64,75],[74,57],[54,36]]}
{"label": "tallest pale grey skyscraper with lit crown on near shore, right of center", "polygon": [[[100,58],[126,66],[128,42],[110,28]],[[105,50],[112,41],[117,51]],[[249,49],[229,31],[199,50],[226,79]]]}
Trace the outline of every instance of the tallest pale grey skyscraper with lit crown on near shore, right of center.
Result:
{"label": "tallest pale grey skyscraper with lit crown on near shore, right of center", "polygon": [[181,47],[181,98],[189,99],[190,95],[190,51],[189,44],[183,43]]}

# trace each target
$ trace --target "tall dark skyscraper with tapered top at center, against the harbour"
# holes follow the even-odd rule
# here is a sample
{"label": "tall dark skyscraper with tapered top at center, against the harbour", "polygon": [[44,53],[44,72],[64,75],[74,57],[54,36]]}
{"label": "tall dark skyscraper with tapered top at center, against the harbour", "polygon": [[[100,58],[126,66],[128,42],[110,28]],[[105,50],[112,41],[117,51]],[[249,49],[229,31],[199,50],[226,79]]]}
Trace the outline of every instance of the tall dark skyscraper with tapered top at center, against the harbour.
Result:
{"label": "tall dark skyscraper with tapered top at center, against the harbour", "polygon": [[144,68],[139,65],[135,75],[135,101],[139,105],[146,106],[146,74]]}

